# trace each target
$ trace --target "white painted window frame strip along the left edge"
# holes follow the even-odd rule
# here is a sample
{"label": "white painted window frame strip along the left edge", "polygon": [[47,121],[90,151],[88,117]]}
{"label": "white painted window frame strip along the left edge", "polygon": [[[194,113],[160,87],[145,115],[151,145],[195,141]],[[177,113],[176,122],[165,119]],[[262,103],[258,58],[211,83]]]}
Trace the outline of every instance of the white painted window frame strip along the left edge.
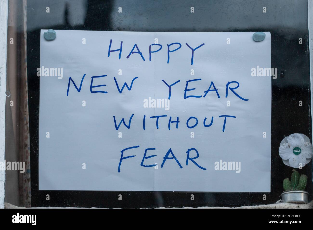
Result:
{"label": "white painted window frame strip along the left edge", "polygon": [[[0,161],[4,162],[5,100],[7,76],[8,0],[0,0]],[[5,171],[0,170],[0,208],[4,208]]]}

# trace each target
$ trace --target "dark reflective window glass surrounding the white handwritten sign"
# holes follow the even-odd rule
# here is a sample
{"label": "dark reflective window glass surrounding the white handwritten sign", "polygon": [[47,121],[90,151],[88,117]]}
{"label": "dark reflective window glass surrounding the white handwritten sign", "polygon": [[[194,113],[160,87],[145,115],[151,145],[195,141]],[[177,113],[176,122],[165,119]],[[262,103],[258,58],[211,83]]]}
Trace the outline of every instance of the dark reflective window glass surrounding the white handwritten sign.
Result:
{"label": "dark reflective window glass surrounding the white handwritten sign", "polygon": [[[82,7],[79,4],[73,10],[73,4],[64,7],[64,1],[46,1],[50,13],[38,16],[46,7],[40,2],[28,1],[27,6],[32,207],[230,207],[270,204],[280,199],[282,181],[292,170],[278,155],[280,141],[292,133],[303,133],[312,141],[307,0],[86,0],[84,24],[77,26],[71,26],[68,17],[75,18],[73,12]],[[118,6],[123,13],[117,13]],[[195,13],[190,13],[191,6]],[[267,13],[262,13],[264,6]],[[56,11],[64,12],[62,23],[53,24],[58,21],[53,14]],[[266,194],[267,199],[263,200],[263,193],[38,191],[39,78],[36,69],[40,66],[40,29],[49,29],[44,22],[50,21],[49,28],[67,30],[271,32],[272,67],[278,68],[279,75],[272,79],[271,192]],[[299,38],[303,44],[299,44]],[[299,107],[300,100],[302,107]],[[306,190],[311,200],[312,161],[299,171],[309,177]],[[49,201],[46,194],[50,195]],[[122,201],[118,201],[118,194],[122,195]],[[194,201],[190,200],[191,194],[195,196]]]}

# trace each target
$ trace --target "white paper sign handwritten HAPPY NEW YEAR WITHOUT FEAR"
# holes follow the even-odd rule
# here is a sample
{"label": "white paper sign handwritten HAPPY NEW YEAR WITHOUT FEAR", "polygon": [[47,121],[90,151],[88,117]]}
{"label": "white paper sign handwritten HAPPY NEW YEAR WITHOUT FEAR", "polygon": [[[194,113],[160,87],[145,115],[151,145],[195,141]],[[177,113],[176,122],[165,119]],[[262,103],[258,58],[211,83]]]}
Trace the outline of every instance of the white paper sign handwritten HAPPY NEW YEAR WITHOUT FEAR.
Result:
{"label": "white paper sign handwritten HAPPY NEW YEAR WITHOUT FEAR", "polygon": [[269,32],[45,31],[39,190],[270,192]]}

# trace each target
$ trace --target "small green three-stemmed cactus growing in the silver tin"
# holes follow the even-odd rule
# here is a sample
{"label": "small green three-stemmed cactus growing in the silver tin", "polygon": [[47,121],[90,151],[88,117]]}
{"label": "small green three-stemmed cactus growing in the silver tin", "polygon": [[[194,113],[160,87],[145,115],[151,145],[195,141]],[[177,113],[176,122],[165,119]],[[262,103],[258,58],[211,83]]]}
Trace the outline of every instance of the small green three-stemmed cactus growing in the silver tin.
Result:
{"label": "small green three-stemmed cactus growing in the silver tin", "polygon": [[288,191],[304,191],[306,183],[308,182],[308,177],[304,174],[300,176],[299,172],[295,169],[292,170],[291,180],[289,178],[284,179],[283,188],[285,192]]}

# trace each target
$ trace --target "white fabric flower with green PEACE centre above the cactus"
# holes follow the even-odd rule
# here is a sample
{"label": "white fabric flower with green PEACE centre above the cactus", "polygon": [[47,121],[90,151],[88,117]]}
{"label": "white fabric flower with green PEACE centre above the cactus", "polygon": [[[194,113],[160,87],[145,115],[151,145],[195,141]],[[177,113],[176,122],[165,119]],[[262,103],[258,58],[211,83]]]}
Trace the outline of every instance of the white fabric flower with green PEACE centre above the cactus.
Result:
{"label": "white fabric flower with green PEACE centre above the cactus", "polygon": [[280,142],[279,156],[285,165],[293,168],[302,167],[312,159],[312,144],[302,133],[293,133]]}

